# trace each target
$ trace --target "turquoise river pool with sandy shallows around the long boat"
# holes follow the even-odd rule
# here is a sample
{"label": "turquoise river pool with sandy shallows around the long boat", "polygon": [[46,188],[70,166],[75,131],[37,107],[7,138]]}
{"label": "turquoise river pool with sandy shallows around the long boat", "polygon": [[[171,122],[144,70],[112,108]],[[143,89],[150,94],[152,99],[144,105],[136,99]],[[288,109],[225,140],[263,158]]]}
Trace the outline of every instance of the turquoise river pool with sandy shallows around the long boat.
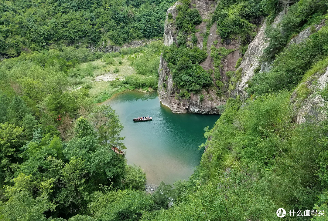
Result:
{"label": "turquoise river pool with sandy shallows around the long boat", "polygon": [[[113,107],[124,126],[126,158],[129,164],[141,166],[147,184],[160,181],[173,184],[188,180],[199,164],[206,141],[204,128],[213,127],[219,115],[174,114],[160,103],[157,92],[145,94],[127,91],[103,102]],[[150,115],[153,120],[133,122],[133,118]]]}

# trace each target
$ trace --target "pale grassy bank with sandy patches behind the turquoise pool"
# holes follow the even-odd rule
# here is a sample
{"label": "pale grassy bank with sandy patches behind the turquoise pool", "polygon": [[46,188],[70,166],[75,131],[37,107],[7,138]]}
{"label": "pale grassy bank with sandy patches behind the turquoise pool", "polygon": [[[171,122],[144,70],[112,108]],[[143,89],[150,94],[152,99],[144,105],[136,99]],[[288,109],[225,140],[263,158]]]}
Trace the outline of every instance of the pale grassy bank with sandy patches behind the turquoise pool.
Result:
{"label": "pale grassy bank with sandy patches behind the turquoise pool", "polygon": [[161,42],[104,54],[69,72],[70,90],[87,89],[93,102],[102,102],[125,90],[151,92],[158,84]]}

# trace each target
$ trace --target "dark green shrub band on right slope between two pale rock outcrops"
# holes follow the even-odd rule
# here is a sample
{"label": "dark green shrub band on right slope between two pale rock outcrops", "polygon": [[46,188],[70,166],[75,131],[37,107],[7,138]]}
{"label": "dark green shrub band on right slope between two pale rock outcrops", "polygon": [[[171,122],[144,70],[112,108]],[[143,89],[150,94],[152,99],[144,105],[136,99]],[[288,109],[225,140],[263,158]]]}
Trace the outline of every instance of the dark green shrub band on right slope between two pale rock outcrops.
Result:
{"label": "dark green shrub band on right slope between two pale rock outcrops", "polygon": [[[284,49],[277,56],[269,72],[258,73],[251,79],[248,93],[264,94],[269,91],[291,90],[302,80],[313,64],[322,57],[328,56],[327,47],[328,28],[323,27],[304,43],[293,44]],[[325,60],[318,63],[315,69],[322,69],[325,63],[327,63]]]}

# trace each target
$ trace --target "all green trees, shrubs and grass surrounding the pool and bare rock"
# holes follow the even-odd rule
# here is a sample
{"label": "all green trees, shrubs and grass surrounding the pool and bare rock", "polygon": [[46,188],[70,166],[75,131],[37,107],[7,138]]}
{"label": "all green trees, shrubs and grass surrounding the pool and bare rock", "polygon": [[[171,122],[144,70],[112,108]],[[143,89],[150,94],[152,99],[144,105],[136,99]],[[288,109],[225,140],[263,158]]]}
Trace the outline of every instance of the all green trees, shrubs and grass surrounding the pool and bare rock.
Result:
{"label": "all green trees, shrubs and grass surrounding the pool and bare rock", "polygon": [[[278,27],[271,24],[284,10],[281,1],[217,3],[209,24],[217,22],[222,38],[239,37],[245,47],[256,30],[252,22],[268,16],[261,62],[271,69],[256,68],[249,98],[230,98],[214,127],[205,128],[206,152],[188,181],[174,188],[161,182],[146,194],[142,169],[111,150],[125,149],[123,126],[110,106],[94,103],[124,90],[156,89],[161,52],[174,82],[186,89],[182,96],[213,83],[199,66],[206,50],[187,46],[186,33],[201,22],[187,0],[178,9],[176,25],[185,32],[178,46],[155,41],[107,54],[86,48],[160,36],[171,3],[0,2],[0,51],[16,56],[0,61],[1,221],[270,221],[278,208],[325,210],[311,220],[327,220],[328,87],[312,91],[301,83],[327,69],[328,26],[287,46],[296,33],[328,19],[324,0],[296,1]],[[114,79],[96,81],[108,74]],[[311,93],[323,99],[315,110],[321,118],[297,124],[295,105]]]}

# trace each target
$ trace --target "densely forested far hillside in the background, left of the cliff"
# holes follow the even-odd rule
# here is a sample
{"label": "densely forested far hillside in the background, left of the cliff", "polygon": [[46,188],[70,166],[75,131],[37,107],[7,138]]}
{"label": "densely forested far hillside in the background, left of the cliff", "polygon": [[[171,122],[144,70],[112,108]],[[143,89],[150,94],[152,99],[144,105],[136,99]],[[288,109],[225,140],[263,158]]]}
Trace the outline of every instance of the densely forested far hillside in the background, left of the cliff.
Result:
{"label": "densely forested far hillside in the background, left of the cliff", "polygon": [[0,2],[0,55],[161,37],[174,0]]}

